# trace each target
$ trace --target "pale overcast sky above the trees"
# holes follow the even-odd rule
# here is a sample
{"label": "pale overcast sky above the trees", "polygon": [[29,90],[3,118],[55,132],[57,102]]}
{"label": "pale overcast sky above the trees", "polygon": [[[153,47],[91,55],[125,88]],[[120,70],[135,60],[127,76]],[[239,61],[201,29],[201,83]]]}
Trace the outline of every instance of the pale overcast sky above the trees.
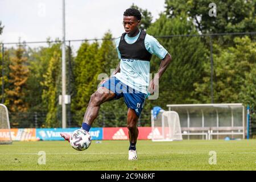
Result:
{"label": "pale overcast sky above the trees", "polygon": [[[3,29],[0,42],[36,42],[62,38],[62,0],[0,0]],[[133,3],[152,13],[153,22],[164,11],[164,0],[66,0],[66,40],[114,38],[123,32],[123,11]],[[75,44],[75,43],[74,43]],[[36,46],[36,45],[35,45]]]}

